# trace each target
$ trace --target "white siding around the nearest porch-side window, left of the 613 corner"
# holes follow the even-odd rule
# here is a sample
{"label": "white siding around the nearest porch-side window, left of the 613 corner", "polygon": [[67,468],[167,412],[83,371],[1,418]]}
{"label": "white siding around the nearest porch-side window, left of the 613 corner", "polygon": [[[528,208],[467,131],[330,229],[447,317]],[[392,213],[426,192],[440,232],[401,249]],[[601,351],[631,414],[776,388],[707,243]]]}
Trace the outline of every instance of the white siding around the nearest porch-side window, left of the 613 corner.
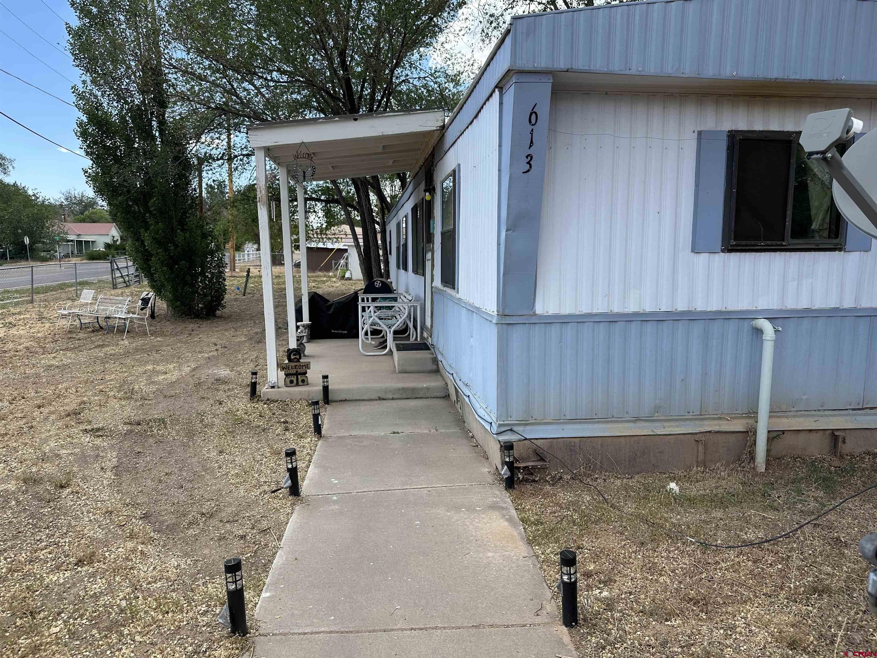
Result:
{"label": "white siding around the nearest porch-side window, left of the 613 corner", "polygon": [[441,282],[441,182],[460,164],[460,217],[457,218],[457,295],[496,312],[496,209],[499,167],[499,93],[435,167],[435,285]]}

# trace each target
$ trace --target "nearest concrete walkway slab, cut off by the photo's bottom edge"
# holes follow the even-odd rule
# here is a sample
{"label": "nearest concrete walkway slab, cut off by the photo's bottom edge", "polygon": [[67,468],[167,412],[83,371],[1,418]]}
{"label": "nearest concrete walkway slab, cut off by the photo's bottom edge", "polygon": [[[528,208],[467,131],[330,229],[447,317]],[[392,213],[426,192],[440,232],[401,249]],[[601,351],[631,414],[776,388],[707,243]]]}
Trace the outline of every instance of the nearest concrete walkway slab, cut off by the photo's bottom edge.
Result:
{"label": "nearest concrete walkway slab, cut off by the photo's bottom edge", "polygon": [[256,640],[256,658],[554,658],[574,656],[567,633],[553,626],[453,628],[384,633],[274,635]]}

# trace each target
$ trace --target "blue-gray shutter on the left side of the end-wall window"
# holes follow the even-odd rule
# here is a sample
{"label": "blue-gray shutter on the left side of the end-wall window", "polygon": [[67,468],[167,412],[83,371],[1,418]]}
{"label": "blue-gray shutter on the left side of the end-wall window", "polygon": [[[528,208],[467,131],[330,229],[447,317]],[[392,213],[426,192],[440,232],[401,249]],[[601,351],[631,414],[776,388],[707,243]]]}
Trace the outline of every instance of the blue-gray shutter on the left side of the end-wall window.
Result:
{"label": "blue-gray shutter on the left side of the end-wall window", "polygon": [[691,251],[695,253],[722,251],[727,160],[727,131],[697,131],[695,215],[691,226]]}

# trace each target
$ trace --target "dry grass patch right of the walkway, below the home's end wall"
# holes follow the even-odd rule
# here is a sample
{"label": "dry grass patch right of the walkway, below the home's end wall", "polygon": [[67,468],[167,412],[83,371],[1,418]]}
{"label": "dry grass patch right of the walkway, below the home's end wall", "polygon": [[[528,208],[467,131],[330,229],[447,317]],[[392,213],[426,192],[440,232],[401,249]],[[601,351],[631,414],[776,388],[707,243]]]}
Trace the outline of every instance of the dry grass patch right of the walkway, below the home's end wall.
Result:
{"label": "dry grass patch right of the walkway, below the home's end wall", "polygon": [[[557,474],[518,485],[512,500],[549,587],[558,554],[579,553],[582,656],[825,656],[877,648],[864,611],[868,568],[859,538],[875,529],[868,493],[802,532],[761,547],[695,546],[645,515],[713,543],[781,533],[877,480],[877,455],[831,468],[828,458],[771,460],[764,476],[739,466],[673,474]],[[667,492],[674,481],[681,494]],[[843,633],[841,633],[843,629]]]}

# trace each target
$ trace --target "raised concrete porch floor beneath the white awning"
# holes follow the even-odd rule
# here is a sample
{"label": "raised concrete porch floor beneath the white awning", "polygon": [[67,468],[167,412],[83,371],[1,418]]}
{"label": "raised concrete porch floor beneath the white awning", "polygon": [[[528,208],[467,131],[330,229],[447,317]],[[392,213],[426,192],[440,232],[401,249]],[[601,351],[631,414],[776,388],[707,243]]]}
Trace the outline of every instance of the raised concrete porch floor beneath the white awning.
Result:
{"label": "raised concrete porch floor beneath the white awning", "polygon": [[314,340],[308,343],[304,361],[310,361],[307,386],[283,386],[279,374],[276,389],[263,389],[263,400],[317,400],[322,396],[322,375],[329,375],[329,399],[390,400],[416,397],[447,397],[441,375],[396,373],[392,354],[366,356],[356,340]]}

